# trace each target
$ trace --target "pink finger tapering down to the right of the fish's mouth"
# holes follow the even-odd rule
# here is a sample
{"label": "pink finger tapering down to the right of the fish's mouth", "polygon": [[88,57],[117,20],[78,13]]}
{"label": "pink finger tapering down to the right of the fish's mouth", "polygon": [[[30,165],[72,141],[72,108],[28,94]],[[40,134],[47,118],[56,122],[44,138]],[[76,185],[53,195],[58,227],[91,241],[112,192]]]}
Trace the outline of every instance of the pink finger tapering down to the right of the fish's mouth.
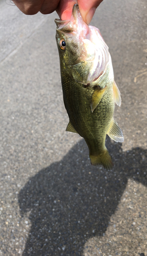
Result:
{"label": "pink finger tapering down to the right of the fish's mouth", "polygon": [[103,0],[78,0],[79,10],[86,24],[91,22],[97,7],[102,1]]}

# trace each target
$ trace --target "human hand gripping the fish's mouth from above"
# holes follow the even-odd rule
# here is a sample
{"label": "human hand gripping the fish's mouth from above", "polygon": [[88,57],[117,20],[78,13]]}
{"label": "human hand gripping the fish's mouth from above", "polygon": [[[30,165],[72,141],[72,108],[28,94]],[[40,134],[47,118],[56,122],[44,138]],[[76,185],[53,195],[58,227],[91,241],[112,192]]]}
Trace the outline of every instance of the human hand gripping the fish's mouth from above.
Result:
{"label": "human hand gripping the fish's mouth from above", "polygon": [[103,0],[13,0],[14,4],[25,14],[37,12],[49,14],[56,11],[62,20],[70,19],[74,4],[78,4],[85,23],[89,24],[96,8]]}

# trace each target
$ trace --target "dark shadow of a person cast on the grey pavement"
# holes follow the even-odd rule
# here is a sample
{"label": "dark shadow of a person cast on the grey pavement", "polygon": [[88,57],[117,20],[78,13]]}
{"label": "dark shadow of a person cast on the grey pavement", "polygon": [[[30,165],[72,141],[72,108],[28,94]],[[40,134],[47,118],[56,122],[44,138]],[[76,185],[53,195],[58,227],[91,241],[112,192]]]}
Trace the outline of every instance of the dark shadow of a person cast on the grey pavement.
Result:
{"label": "dark shadow of a person cast on the grey pavement", "polygon": [[23,256],[82,255],[87,239],[106,231],[128,178],[146,185],[146,150],[123,152],[120,143],[108,138],[107,148],[112,171],[91,165],[82,139],[20,190],[21,214],[31,211],[32,222]]}

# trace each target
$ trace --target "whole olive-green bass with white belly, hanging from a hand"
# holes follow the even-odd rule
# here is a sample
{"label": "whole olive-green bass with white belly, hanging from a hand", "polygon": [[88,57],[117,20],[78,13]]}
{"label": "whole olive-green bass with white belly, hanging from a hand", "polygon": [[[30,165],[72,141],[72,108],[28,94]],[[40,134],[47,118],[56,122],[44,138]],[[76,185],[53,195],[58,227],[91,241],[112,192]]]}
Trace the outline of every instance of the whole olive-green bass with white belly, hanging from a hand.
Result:
{"label": "whole olive-green bass with white belly, hanging from a hand", "polygon": [[123,142],[114,120],[114,104],[121,106],[111,56],[100,30],[84,23],[77,4],[70,20],[55,19],[65,108],[66,131],[78,133],[89,147],[92,165],[112,169],[106,135]]}

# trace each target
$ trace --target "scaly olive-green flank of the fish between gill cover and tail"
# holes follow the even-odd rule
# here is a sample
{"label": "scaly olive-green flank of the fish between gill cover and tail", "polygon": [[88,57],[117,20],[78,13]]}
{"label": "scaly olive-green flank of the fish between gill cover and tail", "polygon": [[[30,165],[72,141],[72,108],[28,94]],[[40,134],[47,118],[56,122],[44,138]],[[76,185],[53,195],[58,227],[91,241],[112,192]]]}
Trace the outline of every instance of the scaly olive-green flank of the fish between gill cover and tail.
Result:
{"label": "scaly olive-green flank of the fish between gill cover and tail", "polygon": [[[114,101],[109,102],[110,93],[107,92],[92,113],[90,102],[94,90],[84,88],[82,84],[79,85],[72,79],[67,82],[64,77],[62,77],[64,103],[70,121],[77,133],[85,139],[90,154],[100,154],[105,148],[105,137],[114,112]],[[107,126],[104,125],[106,120]]]}

